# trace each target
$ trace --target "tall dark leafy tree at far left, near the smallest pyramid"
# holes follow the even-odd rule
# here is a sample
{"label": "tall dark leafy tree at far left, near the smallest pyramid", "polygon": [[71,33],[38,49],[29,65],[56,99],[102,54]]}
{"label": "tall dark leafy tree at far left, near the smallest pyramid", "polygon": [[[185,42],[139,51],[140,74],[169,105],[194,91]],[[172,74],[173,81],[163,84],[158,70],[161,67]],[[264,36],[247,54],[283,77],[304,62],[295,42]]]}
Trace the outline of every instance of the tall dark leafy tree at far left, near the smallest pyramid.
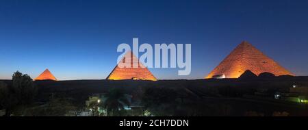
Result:
{"label": "tall dark leafy tree at far left, near the smallest pyramid", "polygon": [[18,71],[12,76],[12,85],[1,85],[1,106],[5,109],[5,116],[23,114],[25,107],[34,102],[37,89],[29,75]]}

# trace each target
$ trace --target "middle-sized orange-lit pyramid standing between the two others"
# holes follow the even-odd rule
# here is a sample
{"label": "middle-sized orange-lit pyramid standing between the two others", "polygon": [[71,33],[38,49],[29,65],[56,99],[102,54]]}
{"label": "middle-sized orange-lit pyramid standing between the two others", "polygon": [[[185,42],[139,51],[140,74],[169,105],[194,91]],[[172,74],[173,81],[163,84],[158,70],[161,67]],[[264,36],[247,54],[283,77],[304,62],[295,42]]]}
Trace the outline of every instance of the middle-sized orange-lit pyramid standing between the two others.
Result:
{"label": "middle-sized orange-lit pyramid standing between the two others", "polygon": [[[129,57],[125,60],[125,57]],[[131,51],[125,54],[125,57],[116,65],[112,73],[107,77],[107,79],[112,80],[124,80],[124,79],[138,79],[138,80],[151,80],[157,81],[157,79],[152,75],[148,68],[145,68],[144,65],[139,62],[138,57],[133,55]],[[120,68],[119,64],[125,64],[126,61],[131,61],[130,68]],[[138,68],[133,68],[133,63],[138,64]]]}

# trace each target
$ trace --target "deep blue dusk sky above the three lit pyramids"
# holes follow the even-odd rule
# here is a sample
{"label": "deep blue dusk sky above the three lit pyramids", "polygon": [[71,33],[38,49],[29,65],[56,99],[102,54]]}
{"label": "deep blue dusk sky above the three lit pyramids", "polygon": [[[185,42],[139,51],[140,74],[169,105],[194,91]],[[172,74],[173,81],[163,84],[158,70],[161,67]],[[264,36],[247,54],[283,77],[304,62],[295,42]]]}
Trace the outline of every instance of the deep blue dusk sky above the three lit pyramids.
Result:
{"label": "deep blue dusk sky above the three lit pyramids", "polygon": [[308,75],[307,0],[1,0],[0,79],[16,70],[60,80],[105,79],[118,44],[192,44],[192,73],[150,69],[158,79],[200,79],[242,40],[296,75]]}

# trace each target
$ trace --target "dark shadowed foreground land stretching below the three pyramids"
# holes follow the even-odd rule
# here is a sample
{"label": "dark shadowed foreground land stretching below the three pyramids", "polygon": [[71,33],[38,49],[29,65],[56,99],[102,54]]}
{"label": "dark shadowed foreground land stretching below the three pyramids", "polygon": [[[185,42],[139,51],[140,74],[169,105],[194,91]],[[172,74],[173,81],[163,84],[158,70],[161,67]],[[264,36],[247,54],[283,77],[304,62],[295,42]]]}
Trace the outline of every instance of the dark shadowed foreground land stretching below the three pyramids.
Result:
{"label": "dark shadowed foreground land stretching below the three pyramids", "polygon": [[[12,83],[3,82],[8,86]],[[24,116],[80,116],[88,111],[88,102],[95,97],[101,99],[101,95],[114,88],[129,95],[129,109],[112,116],[308,116],[308,77],[34,81],[34,84],[38,87],[37,105],[45,105],[56,96],[68,99],[69,107],[79,109],[79,113],[63,113],[69,111],[63,110],[66,102],[60,102],[57,105],[64,107],[61,114],[57,114],[59,109],[40,114],[34,108]],[[90,116],[100,116],[99,113],[92,112]]]}

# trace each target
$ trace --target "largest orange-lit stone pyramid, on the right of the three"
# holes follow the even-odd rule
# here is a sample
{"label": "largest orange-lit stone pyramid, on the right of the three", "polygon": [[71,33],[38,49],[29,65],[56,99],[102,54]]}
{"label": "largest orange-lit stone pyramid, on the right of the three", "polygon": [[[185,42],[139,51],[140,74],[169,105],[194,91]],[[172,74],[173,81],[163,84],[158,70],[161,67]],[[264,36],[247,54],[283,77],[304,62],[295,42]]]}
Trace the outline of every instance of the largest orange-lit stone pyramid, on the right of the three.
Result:
{"label": "largest orange-lit stone pyramid, on the right of the three", "polygon": [[238,78],[246,70],[251,70],[256,75],[264,72],[272,73],[276,76],[293,75],[290,71],[253,47],[253,45],[244,41],[205,78]]}

